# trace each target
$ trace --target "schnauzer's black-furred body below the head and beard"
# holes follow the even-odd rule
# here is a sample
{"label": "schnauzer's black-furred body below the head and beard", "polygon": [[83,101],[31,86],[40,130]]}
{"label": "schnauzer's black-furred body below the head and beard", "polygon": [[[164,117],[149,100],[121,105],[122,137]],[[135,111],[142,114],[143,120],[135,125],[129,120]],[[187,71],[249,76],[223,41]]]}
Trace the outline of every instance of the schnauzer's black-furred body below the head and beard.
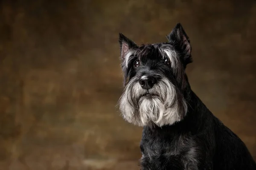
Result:
{"label": "schnauzer's black-furred body below the head and beard", "polygon": [[142,170],[256,170],[241,139],[192,91],[189,105],[181,122],[143,128]]}

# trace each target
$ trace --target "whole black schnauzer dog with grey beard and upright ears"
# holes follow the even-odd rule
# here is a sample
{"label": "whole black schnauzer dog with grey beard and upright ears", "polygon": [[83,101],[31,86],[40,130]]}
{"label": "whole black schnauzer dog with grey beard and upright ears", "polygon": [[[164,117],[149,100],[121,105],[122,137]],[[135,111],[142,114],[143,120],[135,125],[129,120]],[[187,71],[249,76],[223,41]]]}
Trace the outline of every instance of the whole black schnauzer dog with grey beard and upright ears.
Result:
{"label": "whole black schnauzer dog with grey beard and upright ears", "polygon": [[141,170],[256,170],[244,142],[192,91],[189,37],[180,23],[167,42],[137,45],[119,33],[127,122],[143,127]]}

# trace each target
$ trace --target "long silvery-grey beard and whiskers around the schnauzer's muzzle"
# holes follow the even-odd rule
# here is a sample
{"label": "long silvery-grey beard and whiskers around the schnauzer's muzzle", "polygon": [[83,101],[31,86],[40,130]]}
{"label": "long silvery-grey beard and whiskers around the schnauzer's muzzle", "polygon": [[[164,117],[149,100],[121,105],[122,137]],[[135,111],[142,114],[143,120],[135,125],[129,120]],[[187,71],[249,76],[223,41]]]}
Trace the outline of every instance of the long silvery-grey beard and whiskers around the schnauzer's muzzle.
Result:
{"label": "long silvery-grey beard and whiskers around the schnauzer's muzzle", "polygon": [[134,125],[161,127],[183,119],[187,104],[180,91],[166,78],[148,91],[131,79],[119,99],[119,109],[123,118]]}

